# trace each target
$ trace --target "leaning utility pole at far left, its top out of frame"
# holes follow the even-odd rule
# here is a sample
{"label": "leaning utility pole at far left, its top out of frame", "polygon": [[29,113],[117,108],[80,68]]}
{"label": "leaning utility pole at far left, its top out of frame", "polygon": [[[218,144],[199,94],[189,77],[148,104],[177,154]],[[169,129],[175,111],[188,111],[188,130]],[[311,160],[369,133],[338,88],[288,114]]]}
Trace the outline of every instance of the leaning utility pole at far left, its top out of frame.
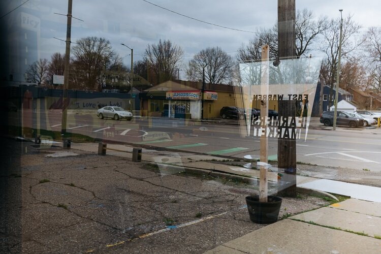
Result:
{"label": "leaning utility pole at far left, its top out of frame", "polygon": [[63,71],[63,89],[62,89],[62,119],[61,135],[66,136],[66,125],[68,118],[68,89],[69,89],[69,68],[70,68],[70,44],[72,34],[72,7],[73,0],[68,0],[68,23],[66,28],[66,51],[65,51],[65,70]]}

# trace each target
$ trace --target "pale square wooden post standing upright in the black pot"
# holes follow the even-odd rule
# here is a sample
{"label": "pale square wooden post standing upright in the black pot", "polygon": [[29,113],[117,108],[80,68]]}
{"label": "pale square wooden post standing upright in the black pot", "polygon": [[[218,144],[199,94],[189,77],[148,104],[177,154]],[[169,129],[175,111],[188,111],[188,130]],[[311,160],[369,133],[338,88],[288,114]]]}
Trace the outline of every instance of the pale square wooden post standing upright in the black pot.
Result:
{"label": "pale square wooden post standing upright in the black pot", "polygon": [[[269,45],[262,46],[262,66],[261,66],[261,94],[269,94]],[[267,138],[267,117],[269,101],[261,100],[261,166],[259,173],[259,201],[267,202],[267,170],[268,163],[268,138]]]}

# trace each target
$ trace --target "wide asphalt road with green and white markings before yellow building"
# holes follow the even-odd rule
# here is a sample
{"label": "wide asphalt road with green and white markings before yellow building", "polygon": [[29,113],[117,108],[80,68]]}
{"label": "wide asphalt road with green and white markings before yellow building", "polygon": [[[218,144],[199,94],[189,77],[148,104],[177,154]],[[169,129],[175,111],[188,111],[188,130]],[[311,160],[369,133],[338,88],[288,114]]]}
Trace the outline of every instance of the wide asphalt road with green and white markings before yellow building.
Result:
{"label": "wide asphalt road with green and white markings before yellow building", "polygon": [[[45,130],[61,130],[59,110],[18,113],[13,115],[12,121],[15,125],[21,123]],[[236,121],[218,123],[140,117],[131,121],[115,121],[99,119],[94,113],[69,112],[67,129],[68,132],[122,143],[219,156],[259,158],[260,139],[253,136],[253,127],[247,137],[244,126],[234,123]],[[378,136],[361,130],[348,132],[342,129],[334,132],[309,129],[306,138],[305,130],[301,130],[301,137],[296,143],[297,162],[380,172]],[[277,149],[277,138],[269,138],[270,161],[277,160]]]}

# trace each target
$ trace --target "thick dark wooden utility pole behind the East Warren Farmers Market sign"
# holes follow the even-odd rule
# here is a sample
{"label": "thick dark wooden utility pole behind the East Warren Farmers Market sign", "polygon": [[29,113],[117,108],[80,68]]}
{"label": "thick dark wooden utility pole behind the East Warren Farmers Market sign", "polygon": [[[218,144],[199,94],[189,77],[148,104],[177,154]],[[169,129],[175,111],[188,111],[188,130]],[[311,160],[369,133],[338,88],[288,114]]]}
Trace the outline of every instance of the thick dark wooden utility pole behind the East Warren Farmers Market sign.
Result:
{"label": "thick dark wooden utility pole behind the East Warren Farmers Market sign", "polygon": [[[280,64],[295,58],[295,0],[278,0],[278,55]],[[291,116],[296,116],[295,102],[278,101],[278,117]],[[290,131],[290,138],[278,138],[278,195],[296,196],[296,139],[290,129],[281,129]]]}

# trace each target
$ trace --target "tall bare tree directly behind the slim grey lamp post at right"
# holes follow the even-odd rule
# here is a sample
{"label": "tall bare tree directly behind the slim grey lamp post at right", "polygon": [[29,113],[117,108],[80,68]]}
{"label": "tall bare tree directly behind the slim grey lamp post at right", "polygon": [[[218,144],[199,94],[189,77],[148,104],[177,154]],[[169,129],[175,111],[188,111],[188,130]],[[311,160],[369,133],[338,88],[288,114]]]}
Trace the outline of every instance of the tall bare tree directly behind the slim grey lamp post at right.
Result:
{"label": "tall bare tree directly behind the slim grey lamp post at right", "polygon": [[[350,57],[362,40],[356,41],[353,39],[353,35],[358,33],[361,25],[356,23],[352,19],[352,15],[348,15],[343,20],[342,39],[341,39],[341,55],[342,57]],[[333,94],[333,86],[337,75],[338,55],[339,55],[339,41],[340,41],[340,18],[331,19],[328,23],[328,28],[322,33],[324,36],[324,43],[321,46],[321,50],[326,54],[327,63],[329,66],[329,74],[326,75],[328,80],[324,80],[325,84],[330,85],[330,97]],[[332,102],[330,101],[330,106]]]}

